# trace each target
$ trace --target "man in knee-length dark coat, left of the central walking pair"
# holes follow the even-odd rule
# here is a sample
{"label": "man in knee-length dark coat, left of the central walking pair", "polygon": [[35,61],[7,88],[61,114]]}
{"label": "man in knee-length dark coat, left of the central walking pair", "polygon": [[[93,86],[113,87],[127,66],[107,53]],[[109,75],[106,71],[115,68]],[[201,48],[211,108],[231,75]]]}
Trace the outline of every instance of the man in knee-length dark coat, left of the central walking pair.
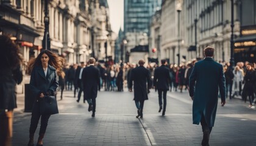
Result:
{"label": "man in knee-length dark coat, left of the central walking pair", "polygon": [[[129,91],[132,92],[132,82],[134,82],[134,99],[135,105],[138,109],[138,117],[143,117],[143,106],[144,100],[148,100],[148,89],[150,89],[150,76],[149,70],[144,68],[144,60],[138,61],[138,66],[135,69],[132,69],[130,73],[130,80],[129,80]],[[148,83],[148,89],[146,84]]]}

